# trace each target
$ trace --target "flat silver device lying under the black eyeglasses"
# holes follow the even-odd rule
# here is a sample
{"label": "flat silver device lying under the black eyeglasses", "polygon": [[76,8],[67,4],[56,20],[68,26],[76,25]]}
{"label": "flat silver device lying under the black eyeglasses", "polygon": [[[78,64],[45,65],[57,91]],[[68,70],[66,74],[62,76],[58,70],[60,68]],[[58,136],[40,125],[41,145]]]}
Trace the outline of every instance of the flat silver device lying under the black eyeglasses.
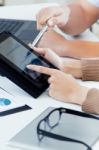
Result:
{"label": "flat silver device lying under the black eyeglasses", "polygon": [[[87,150],[87,148],[79,143],[64,142],[48,137],[40,142],[37,135],[38,122],[43,119],[53,108],[46,109],[38,118],[28,124],[10,141],[10,146],[32,150],[33,146],[49,150]],[[70,110],[71,111],[71,110]],[[78,112],[79,113],[79,112]],[[85,142],[89,146],[93,146],[99,138],[99,120],[81,117],[73,114],[63,114],[61,123],[54,128],[53,133],[60,134],[69,138],[78,139]],[[82,115],[85,113],[82,113]],[[85,115],[86,116],[86,115]],[[53,118],[54,119],[54,118]]]}

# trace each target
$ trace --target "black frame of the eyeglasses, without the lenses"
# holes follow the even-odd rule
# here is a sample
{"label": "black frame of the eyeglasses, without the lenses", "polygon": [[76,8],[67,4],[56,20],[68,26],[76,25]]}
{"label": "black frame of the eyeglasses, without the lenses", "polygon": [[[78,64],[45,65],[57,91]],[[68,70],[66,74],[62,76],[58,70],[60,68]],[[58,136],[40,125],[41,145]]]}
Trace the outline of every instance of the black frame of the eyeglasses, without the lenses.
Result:
{"label": "black frame of the eyeglasses, without the lenses", "polygon": [[[60,115],[59,116],[59,120],[58,120],[58,122],[55,125],[50,126],[49,117],[55,111],[59,111],[59,115]],[[48,132],[46,130],[40,129],[40,125],[41,125],[41,123],[43,121],[45,122],[45,125],[47,124],[49,126],[50,129],[53,129],[54,127],[56,127],[59,124],[60,119],[61,119],[61,115],[63,113],[73,114],[73,115],[77,115],[77,116],[81,116],[81,117],[87,117],[87,118],[92,118],[92,119],[99,120],[99,118],[96,117],[96,116],[93,116],[93,115],[90,115],[90,114],[87,114],[87,113],[83,113],[83,112],[80,112],[80,111],[75,111],[75,110],[71,110],[71,109],[67,109],[67,108],[63,108],[63,107],[55,108],[52,111],[50,111],[47,116],[45,116],[42,120],[40,120],[39,123],[38,123],[38,125],[37,125],[37,135],[38,135],[39,141],[42,141],[42,139],[44,138],[44,136],[46,136],[46,137],[54,138],[54,139],[61,140],[61,141],[69,141],[69,142],[74,142],[74,143],[82,144],[82,145],[86,146],[88,148],[88,150],[92,150],[92,148],[88,144],[86,144],[85,142],[83,142],[83,141],[76,140],[76,139],[69,138],[69,137],[65,137],[65,136],[61,136],[59,134],[55,134],[55,133]],[[41,138],[40,138],[40,135],[42,135]]]}

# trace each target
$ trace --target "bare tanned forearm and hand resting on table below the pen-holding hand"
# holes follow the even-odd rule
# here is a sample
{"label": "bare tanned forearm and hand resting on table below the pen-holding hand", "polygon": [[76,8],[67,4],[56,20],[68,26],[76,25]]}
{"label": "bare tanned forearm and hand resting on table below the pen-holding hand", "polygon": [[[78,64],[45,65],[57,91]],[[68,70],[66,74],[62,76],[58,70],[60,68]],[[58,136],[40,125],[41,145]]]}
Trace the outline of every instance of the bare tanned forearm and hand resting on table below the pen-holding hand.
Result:
{"label": "bare tanned forearm and hand resting on table below the pen-holding hand", "polygon": [[38,47],[48,47],[63,57],[77,59],[99,57],[99,42],[67,40],[53,30],[45,32]]}

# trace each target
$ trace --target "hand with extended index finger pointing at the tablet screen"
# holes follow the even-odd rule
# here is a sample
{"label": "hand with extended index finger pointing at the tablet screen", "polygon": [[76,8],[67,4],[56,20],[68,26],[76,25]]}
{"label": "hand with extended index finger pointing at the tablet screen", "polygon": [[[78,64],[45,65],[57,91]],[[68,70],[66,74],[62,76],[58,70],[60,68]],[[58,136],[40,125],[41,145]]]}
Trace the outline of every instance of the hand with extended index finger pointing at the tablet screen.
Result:
{"label": "hand with extended index finger pointing at the tablet screen", "polygon": [[88,88],[79,85],[72,75],[59,70],[36,65],[28,65],[28,69],[49,75],[49,96],[63,102],[82,105],[86,99]]}

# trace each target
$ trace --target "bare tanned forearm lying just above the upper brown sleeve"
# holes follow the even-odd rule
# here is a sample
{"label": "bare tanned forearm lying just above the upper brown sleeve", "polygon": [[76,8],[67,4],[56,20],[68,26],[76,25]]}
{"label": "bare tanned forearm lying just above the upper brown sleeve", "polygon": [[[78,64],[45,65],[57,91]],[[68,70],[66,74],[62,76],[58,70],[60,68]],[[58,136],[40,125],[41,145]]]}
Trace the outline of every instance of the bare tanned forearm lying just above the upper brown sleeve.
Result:
{"label": "bare tanned forearm lying just above the upper brown sleeve", "polygon": [[65,41],[64,50],[59,54],[78,59],[99,57],[99,43],[81,40]]}

